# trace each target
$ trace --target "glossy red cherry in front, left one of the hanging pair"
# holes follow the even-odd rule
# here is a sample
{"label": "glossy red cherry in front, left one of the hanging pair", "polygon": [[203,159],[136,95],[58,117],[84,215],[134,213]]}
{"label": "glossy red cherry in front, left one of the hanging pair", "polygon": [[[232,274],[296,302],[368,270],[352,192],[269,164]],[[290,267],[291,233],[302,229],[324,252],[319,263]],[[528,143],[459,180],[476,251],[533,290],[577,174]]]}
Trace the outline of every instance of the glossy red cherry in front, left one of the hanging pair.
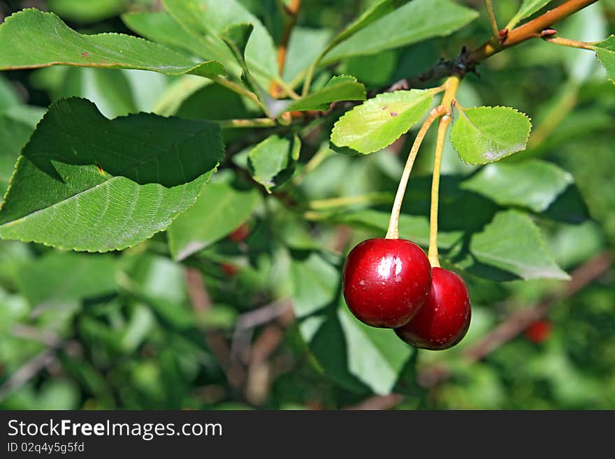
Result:
{"label": "glossy red cherry in front, left one of the hanging pair", "polygon": [[425,302],[431,264],[423,249],[404,239],[368,239],[348,254],[344,298],[354,316],[372,327],[395,328]]}

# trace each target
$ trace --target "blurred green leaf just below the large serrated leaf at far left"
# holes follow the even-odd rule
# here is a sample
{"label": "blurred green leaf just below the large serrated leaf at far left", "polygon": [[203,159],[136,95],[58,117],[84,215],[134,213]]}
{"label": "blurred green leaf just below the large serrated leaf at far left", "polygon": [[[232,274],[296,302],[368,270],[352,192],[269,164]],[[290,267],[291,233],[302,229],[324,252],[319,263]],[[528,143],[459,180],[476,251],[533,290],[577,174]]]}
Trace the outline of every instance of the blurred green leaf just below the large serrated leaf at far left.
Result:
{"label": "blurred green leaf just below the large serrated leaf at far left", "polygon": [[113,256],[50,252],[23,265],[17,284],[36,306],[113,293],[117,291],[115,275]]}

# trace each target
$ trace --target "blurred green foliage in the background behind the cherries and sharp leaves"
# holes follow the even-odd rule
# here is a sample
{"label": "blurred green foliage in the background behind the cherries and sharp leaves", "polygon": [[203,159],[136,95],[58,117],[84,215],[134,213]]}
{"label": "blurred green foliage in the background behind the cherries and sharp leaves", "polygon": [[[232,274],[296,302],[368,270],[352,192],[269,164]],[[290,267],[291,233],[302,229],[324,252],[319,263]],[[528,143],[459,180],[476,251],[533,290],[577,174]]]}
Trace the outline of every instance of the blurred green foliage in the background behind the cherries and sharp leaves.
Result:
{"label": "blurred green foliage in the background behind the cherries and sharp leaves", "polygon": [[[153,0],[34,3],[54,10],[82,33],[131,33],[121,13],[160,8]],[[277,2],[241,3],[261,18],[277,43],[283,22]],[[304,3],[291,38],[287,81],[305,68],[301,59],[306,54],[313,60],[314,49],[375,1]],[[457,3],[478,10],[479,19],[451,36],[345,59],[326,68],[314,87],[341,73],[354,75],[367,89],[389,85],[439,57],[456,55],[461,45],[482,43],[491,34],[482,2]],[[521,2],[494,3],[496,15],[508,18]],[[21,1],[0,0],[0,13],[8,15],[23,6]],[[558,30],[563,36],[595,41],[613,33],[614,24],[615,1],[602,0],[565,20]],[[468,75],[463,81],[461,104],[507,105],[533,120],[528,150],[502,164],[548,161],[570,173],[574,182],[567,191],[558,191],[563,194],[557,201],[549,201],[557,205],[547,205],[544,212],[530,206],[555,261],[572,272],[612,250],[615,87],[605,80],[593,53],[530,41],[495,55],[479,70],[480,78]],[[66,96],[86,97],[107,117],[138,111],[190,119],[254,114],[251,101],[197,80],[92,68],[4,72],[0,147],[22,145],[46,107]],[[340,304],[340,265],[356,243],[382,237],[383,232],[377,224],[365,224],[366,217],[362,224],[353,224],[348,215],[389,209],[413,136],[370,156],[333,154],[326,148],[333,121],[325,119],[302,138],[301,159],[277,196],[263,194],[242,203],[240,217],[249,212],[245,240],[229,236],[232,228],[224,221],[199,226],[198,219],[189,220],[193,212],[185,224],[194,226],[208,247],[187,249],[191,256],[181,263],[171,257],[166,233],[106,255],[0,241],[0,408],[337,409],[374,392],[395,391],[403,395],[398,409],[614,409],[612,268],[579,293],[553,302],[546,318],[552,331],[546,340],[533,342],[521,333],[478,363],[468,363],[464,351],[511,314],[564,289],[566,282],[493,282],[466,272],[472,325],[465,340],[449,351],[399,348],[382,334],[362,335],[353,328],[343,301]],[[421,186],[412,191],[412,184],[415,179],[418,184],[427,181],[431,174],[433,134],[428,134],[414,168],[406,198],[409,212],[426,205]],[[215,194],[236,182],[236,196],[252,196],[242,191],[247,184],[246,147],[262,138],[254,131],[226,130],[224,139],[233,156],[227,156],[224,173],[214,177],[215,187],[206,192]],[[8,167],[0,163],[0,171]],[[451,183],[458,183],[476,168],[461,163],[447,147],[442,170]],[[474,182],[480,179],[472,176]],[[446,177],[443,180],[446,183]],[[509,188],[519,178],[510,180]],[[566,183],[558,182],[558,187],[564,189]],[[2,192],[8,187],[8,177],[0,175],[0,187]],[[447,196],[453,200],[445,207],[453,212],[449,221],[482,226],[485,222],[474,219],[495,208],[486,198],[475,198],[467,211],[457,209],[455,214],[457,201],[446,187],[443,193],[444,206]],[[507,199],[512,201],[503,204],[523,207],[519,195],[510,193]],[[525,197],[523,190],[519,194]],[[371,198],[341,208],[322,201],[356,196]],[[284,200],[302,205],[292,210]],[[345,225],[314,218],[320,215],[315,211],[322,206],[327,210],[327,205],[347,214]],[[295,314],[309,320],[289,319],[289,299]],[[365,348],[349,349],[352,343],[344,341],[348,335]],[[361,362],[356,349],[371,353],[377,364],[348,372],[346,365]],[[448,376],[432,386],[428,375],[434,369],[446,369]]]}

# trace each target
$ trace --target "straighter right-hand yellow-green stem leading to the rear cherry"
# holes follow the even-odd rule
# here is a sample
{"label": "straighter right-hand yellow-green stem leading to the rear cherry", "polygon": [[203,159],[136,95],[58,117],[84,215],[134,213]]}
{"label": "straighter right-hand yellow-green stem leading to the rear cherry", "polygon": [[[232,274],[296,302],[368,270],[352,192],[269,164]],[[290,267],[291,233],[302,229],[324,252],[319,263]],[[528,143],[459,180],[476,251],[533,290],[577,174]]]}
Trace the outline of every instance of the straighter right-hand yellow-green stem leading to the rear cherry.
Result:
{"label": "straighter right-hand yellow-green stem leading to the rear cherry", "polygon": [[444,152],[444,140],[447,138],[447,129],[451,124],[452,112],[451,105],[455,101],[457,90],[459,89],[460,78],[456,75],[447,80],[447,89],[442,98],[442,108],[444,116],[440,118],[437,126],[437,138],[435,141],[435,155],[433,159],[433,179],[431,182],[431,208],[429,212],[429,250],[427,257],[434,267],[440,267],[440,259],[437,255],[437,208],[438,194],[440,191],[440,167],[442,166],[442,153]]}

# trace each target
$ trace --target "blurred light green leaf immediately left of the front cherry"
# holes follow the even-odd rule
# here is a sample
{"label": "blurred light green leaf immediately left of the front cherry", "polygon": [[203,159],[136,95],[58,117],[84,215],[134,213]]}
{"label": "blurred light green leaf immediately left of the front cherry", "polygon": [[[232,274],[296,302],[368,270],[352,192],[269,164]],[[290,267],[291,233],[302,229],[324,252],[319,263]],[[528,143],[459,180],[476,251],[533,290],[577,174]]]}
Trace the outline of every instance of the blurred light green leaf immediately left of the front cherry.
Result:
{"label": "blurred light green leaf immediately left of the front cherry", "polygon": [[298,318],[308,316],[338,298],[340,270],[317,252],[293,258],[291,279],[293,310]]}

